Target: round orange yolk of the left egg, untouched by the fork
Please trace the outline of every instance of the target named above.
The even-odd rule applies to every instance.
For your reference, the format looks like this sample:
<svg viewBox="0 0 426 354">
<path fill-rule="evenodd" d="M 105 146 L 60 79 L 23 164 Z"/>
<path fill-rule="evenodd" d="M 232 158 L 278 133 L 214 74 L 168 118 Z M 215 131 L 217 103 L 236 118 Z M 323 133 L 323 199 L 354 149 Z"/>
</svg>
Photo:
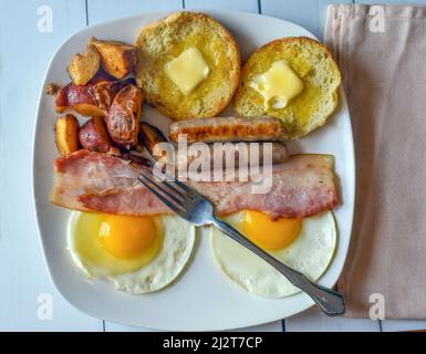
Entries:
<svg viewBox="0 0 426 354">
<path fill-rule="evenodd" d="M 101 244 L 111 254 L 132 259 L 143 253 L 155 238 L 155 225 L 149 217 L 112 216 L 101 223 Z"/>
</svg>

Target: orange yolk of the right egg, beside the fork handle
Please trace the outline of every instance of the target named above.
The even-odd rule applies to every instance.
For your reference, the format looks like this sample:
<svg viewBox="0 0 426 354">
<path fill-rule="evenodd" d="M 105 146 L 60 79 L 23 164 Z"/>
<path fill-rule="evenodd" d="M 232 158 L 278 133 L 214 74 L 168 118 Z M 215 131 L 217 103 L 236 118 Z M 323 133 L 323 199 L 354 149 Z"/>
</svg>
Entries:
<svg viewBox="0 0 426 354">
<path fill-rule="evenodd" d="M 302 219 L 271 220 L 260 211 L 248 210 L 239 220 L 240 231 L 267 251 L 288 247 L 299 236 L 301 228 Z"/>
</svg>

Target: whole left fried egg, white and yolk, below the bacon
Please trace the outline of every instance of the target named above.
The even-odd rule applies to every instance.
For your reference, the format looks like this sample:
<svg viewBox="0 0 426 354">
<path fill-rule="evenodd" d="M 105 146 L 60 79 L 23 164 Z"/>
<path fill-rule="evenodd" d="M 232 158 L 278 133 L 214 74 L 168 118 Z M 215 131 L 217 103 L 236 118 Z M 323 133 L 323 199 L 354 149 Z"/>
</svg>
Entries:
<svg viewBox="0 0 426 354">
<path fill-rule="evenodd" d="M 129 217 L 74 211 L 67 249 L 87 279 L 139 294 L 169 284 L 188 262 L 195 227 L 177 216 Z"/>
</svg>

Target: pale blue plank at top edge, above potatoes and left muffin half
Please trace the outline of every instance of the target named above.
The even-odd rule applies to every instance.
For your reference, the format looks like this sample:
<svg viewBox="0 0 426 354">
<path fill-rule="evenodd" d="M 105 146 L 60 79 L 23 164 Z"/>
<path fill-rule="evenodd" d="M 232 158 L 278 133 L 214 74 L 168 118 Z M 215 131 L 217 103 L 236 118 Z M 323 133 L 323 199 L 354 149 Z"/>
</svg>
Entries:
<svg viewBox="0 0 426 354">
<path fill-rule="evenodd" d="M 136 15 L 142 12 L 183 9 L 181 0 L 87 0 L 89 24 Z"/>
</svg>

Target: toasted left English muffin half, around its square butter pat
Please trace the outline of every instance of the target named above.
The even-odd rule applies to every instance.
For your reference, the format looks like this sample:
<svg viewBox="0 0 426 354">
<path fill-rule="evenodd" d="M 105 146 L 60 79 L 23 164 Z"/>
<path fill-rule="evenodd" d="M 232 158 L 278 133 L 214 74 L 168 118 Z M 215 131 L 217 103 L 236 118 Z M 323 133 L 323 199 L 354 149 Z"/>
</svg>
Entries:
<svg viewBox="0 0 426 354">
<path fill-rule="evenodd" d="M 143 28 L 135 45 L 137 85 L 146 101 L 173 119 L 209 117 L 231 101 L 240 77 L 240 54 L 231 34 L 214 18 L 180 11 Z M 209 73 L 189 94 L 165 72 L 165 64 L 188 49 L 197 49 Z"/>
</svg>

